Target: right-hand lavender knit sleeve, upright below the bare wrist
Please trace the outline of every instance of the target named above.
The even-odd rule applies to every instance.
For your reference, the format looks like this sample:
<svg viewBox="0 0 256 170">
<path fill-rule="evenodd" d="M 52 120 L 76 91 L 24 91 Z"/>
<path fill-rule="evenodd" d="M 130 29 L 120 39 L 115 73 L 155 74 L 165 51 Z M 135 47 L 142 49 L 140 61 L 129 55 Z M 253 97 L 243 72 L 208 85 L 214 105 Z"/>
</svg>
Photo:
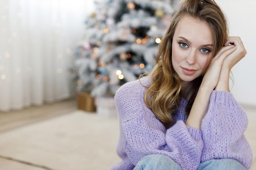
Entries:
<svg viewBox="0 0 256 170">
<path fill-rule="evenodd" d="M 214 90 L 201 124 L 204 142 L 201 162 L 232 158 L 249 170 L 252 151 L 243 135 L 247 124 L 246 113 L 232 93 Z"/>
</svg>

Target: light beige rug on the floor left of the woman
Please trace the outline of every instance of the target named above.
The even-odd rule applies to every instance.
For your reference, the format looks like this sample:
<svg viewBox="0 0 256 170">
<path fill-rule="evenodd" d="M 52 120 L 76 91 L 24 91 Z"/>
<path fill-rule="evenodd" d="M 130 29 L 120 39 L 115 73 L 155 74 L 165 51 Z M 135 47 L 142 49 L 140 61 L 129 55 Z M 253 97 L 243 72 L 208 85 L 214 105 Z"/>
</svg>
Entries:
<svg viewBox="0 0 256 170">
<path fill-rule="evenodd" d="M 0 134 L 0 155 L 53 170 L 108 170 L 120 161 L 118 134 L 117 118 L 76 111 Z"/>
</svg>

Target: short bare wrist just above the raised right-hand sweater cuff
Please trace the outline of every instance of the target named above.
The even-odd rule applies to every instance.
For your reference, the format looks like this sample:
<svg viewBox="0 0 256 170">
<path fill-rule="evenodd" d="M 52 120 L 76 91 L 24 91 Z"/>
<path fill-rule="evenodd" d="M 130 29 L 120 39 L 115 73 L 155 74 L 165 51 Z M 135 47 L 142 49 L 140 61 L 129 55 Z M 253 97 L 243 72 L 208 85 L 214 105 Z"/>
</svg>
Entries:
<svg viewBox="0 0 256 170">
<path fill-rule="evenodd" d="M 227 67 L 222 67 L 219 75 L 218 83 L 215 87 L 217 91 L 230 91 L 229 90 L 229 73 L 230 69 Z"/>
</svg>

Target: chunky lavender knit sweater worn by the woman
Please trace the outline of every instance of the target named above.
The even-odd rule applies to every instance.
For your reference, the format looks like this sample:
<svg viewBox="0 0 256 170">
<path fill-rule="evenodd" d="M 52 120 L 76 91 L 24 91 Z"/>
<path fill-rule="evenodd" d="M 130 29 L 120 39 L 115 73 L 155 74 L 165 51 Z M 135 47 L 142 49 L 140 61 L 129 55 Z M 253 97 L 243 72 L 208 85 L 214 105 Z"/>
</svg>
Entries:
<svg viewBox="0 0 256 170">
<path fill-rule="evenodd" d="M 150 85 L 150 78 L 140 82 Z M 247 116 L 232 93 L 214 90 L 201 130 L 186 126 L 182 98 L 176 122 L 166 129 L 143 101 L 146 88 L 139 81 L 122 85 L 115 101 L 119 114 L 120 136 L 117 153 L 121 162 L 111 170 L 133 170 L 138 161 L 148 154 L 162 154 L 172 158 L 182 170 L 197 170 L 200 162 L 232 158 L 247 170 L 252 164 L 252 151 L 243 133 Z"/>
</svg>

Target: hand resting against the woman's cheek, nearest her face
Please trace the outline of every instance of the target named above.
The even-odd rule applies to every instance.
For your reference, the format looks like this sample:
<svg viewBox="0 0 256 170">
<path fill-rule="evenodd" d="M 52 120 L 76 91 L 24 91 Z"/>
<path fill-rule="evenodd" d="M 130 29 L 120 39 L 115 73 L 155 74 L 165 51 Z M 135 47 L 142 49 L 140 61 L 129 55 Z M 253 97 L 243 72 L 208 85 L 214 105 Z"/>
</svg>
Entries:
<svg viewBox="0 0 256 170">
<path fill-rule="evenodd" d="M 228 42 L 227 42 L 228 43 Z M 221 72 L 222 65 L 225 61 L 225 59 L 236 51 L 235 45 L 225 46 L 222 47 L 222 49 L 216 54 L 216 56 L 211 60 L 208 69 L 203 77 L 202 83 L 200 85 L 200 88 L 206 88 L 212 92 L 214 88 L 216 87 L 219 76 Z M 230 60 L 234 58 L 234 55 L 232 55 L 228 62 L 226 62 L 226 65 L 231 65 Z"/>
</svg>

